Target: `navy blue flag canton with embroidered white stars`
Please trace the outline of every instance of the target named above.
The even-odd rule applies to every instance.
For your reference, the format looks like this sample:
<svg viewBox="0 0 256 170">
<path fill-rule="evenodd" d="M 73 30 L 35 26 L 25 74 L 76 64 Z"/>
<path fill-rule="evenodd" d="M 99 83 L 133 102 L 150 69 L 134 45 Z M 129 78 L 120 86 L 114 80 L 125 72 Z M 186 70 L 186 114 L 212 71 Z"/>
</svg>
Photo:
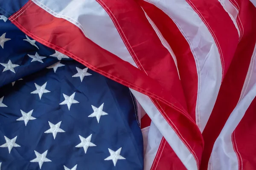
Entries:
<svg viewBox="0 0 256 170">
<path fill-rule="evenodd" d="M 0 20 L 1 170 L 143 169 L 129 89 Z"/>
</svg>

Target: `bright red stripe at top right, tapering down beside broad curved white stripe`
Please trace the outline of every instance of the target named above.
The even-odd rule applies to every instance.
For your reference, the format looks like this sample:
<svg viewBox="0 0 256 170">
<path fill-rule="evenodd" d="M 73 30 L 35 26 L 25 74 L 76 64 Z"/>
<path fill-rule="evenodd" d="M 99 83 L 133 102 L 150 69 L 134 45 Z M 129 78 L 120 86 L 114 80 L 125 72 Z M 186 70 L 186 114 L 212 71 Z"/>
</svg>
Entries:
<svg viewBox="0 0 256 170">
<path fill-rule="evenodd" d="M 221 56 L 223 77 L 227 74 L 239 41 L 237 29 L 217 0 L 186 0 L 212 34 Z"/>
</svg>

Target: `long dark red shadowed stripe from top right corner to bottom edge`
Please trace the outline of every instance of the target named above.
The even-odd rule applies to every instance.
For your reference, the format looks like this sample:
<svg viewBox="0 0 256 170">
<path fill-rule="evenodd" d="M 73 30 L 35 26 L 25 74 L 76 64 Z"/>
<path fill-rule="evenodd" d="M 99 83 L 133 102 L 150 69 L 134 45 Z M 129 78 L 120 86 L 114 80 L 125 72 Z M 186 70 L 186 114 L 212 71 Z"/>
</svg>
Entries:
<svg viewBox="0 0 256 170">
<path fill-rule="evenodd" d="M 218 98 L 204 129 L 204 152 L 201 169 L 206 170 L 212 147 L 225 125 L 230 113 L 239 100 L 244 79 L 256 41 L 256 8 L 249 1 L 241 0 L 239 15 L 244 28 L 244 35 L 239 42 L 233 61 L 222 82 Z"/>
</svg>

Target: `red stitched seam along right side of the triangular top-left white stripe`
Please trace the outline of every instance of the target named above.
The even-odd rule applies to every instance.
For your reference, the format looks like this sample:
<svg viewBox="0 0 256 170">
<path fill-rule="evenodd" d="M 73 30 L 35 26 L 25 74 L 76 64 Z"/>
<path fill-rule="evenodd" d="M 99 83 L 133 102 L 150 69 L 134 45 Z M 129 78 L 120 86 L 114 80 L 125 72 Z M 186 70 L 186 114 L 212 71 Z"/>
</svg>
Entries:
<svg viewBox="0 0 256 170">
<path fill-rule="evenodd" d="M 118 21 L 117 21 L 117 19 L 116 19 L 116 17 L 114 16 L 114 14 L 112 13 L 112 11 L 108 8 L 108 6 L 104 3 L 104 2 L 102 2 L 102 0 L 96 0 L 104 9 L 105 9 L 105 11 L 109 14 L 109 16 L 111 17 L 111 19 L 112 19 L 112 21 L 113 21 L 113 23 L 115 24 L 115 22 L 114 22 L 114 20 L 113 20 L 113 18 L 116 20 L 116 23 L 118 24 L 118 26 L 115 24 L 115 26 L 116 26 L 116 28 L 117 28 L 117 30 L 118 30 L 118 32 L 119 32 L 119 34 L 120 34 L 120 36 L 122 37 L 122 35 L 125 37 L 125 39 L 126 39 L 126 42 L 128 43 L 128 45 L 130 46 L 130 48 L 131 48 L 131 50 L 132 50 L 132 52 L 133 52 L 133 54 L 134 54 L 134 56 L 137 58 L 137 61 L 140 63 L 140 60 L 138 59 L 138 57 L 137 57 L 137 55 L 135 54 L 135 52 L 134 52 L 134 50 L 133 50 L 133 48 L 131 47 L 131 45 L 130 45 L 130 43 L 129 43 L 129 41 L 128 41 L 128 39 L 126 38 L 126 36 L 125 36 L 125 34 L 124 34 L 124 32 L 122 31 L 122 28 L 121 28 L 121 26 L 119 25 L 119 23 L 118 23 Z M 101 3 L 99 2 L 99 1 L 101 1 Z M 102 3 L 108 8 L 108 10 L 102 5 Z M 112 16 L 111 16 L 111 14 L 112 14 Z M 122 31 L 122 34 L 121 34 L 121 32 L 119 31 L 119 29 Z M 122 39 L 123 39 L 123 37 L 122 37 Z M 125 40 L 123 39 L 123 41 L 125 42 Z M 127 43 L 125 43 L 125 45 L 126 45 L 126 47 L 127 47 Z M 128 47 L 127 47 L 128 48 Z M 129 48 L 128 48 L 129 49 Z M 131 56 L 133 57 L 133 55 L 132 55 L 132 53 L 131 53 L 131 51 L 129 50 L 129 52 L 130 52 L 130 54 L 131 54 Z M 133 57 L 134 58 L 134 57 Z M 135 60 L 134 60 L 135 61 Z M 135 61 L 136 62 L 136 61 Z M 137 64 L 137 62 L 136 62 L 136 64 Z M 138 64 L 137 64 L 138 65 Z M 141 67 L 143 68 L 143 66 L 142 66 L 142 64 L 140 63 L 140 65 L 141 65 Z M 145 69 L 143 68 L 143 70 L 145 71 Z M 147 74 L 147 72 L 145 71 L 145 74 Z M 147 74 L 148 75 L 148 74 Z"/>
</svg>

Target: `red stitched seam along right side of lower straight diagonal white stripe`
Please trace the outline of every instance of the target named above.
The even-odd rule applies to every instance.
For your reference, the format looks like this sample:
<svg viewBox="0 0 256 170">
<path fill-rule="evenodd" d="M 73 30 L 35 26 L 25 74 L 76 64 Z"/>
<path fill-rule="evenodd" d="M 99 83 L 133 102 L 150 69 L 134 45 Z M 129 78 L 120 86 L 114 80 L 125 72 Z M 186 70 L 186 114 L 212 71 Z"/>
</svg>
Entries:
<svg viewBox="0 0 256 170">
<path fill-rule="evenodd" d="M 156 105 L 156 103 L 154 102 L 154 100 L 150 97 L 151 101 L 154 103 L 154 105 L 157 107 L 158 111 L 159 108 L 158 106 L 160 106 L 160 104 L 157 102 L 158 106 Z M 163 108 L 160 106 L 161 110 L 163 111 Z M 160 111 L 161 113 L 161 111 Z M 188 144 L 188 142 L 186 141 L 186 139 L 183 138 L 183 136 L 181 135 L 180 131 L 177 129 L 177 127 L 175 126 L 175 124 L 172 122 L 172 120 L 167 116 L 167 114 L 165 113 L 165 111 L 163 111 L 163 113 L 166 115 L 166 117 L 169 119 L 169 121 L 172 123 L 172 125 L 170 124 L 170 122 L 166 119 L 165 116 L 163 116 L 163 118 L 166 120 L 166 122 L 168 122 L 168 124 L 172 127 L 172 129 L 175 131 L 175 133 L 179 136 L 179 138 L 181 139 L 181 141 L 183 142 L 183 144 L 185 144 L 185 146 L 189 149 L 189 151 L 192 153 L 192 155 L 194 156 L 195 158 L 195 161 L 197 162 L 197 167 L 198 167 L 198 170 L 199 170 L 199 160 L 198 160 L 198 157 L 196 156 L 195 154 L 195 151 L 192 150 L 192 148 L 190 147 L 190 145 Z M 162 114 L 163 115 L 163 114 Z M 174 127 L 175 128 L 174 128 Z"/>
</svg>

